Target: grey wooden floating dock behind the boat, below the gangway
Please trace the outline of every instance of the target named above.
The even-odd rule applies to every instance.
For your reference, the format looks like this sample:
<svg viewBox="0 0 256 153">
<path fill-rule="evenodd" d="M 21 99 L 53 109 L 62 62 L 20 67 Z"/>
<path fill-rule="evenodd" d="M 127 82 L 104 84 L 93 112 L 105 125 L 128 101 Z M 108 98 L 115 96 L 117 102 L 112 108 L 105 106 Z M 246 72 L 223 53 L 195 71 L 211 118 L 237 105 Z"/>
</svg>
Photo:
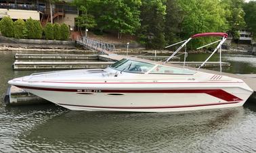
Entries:
<svg viewBox="0 0 256 153">
<path fill-rule="evenodd" d="M 140 59 L 154 61 L 165 61 L 167 56 L 135 56 Z M 103 69 L 114 63 L 111 55 L 51 55 L 51 54 L 16 54 L 16 61 L 13 64 L 14 70 L 37 70 L 37 69 Z M 126 56 L 123 56 L 126 58 Z M 175 57 L 177 59 L 177 57 Z M 23 60 L 31 61 L 23 61 Z M 56 60 L 56 61 L 35 61 L 35 60 Z M 83 59 L 97 59 L 100 61 L 72 61 Z M 22 61 L 20 61 L 22 60 Z M 66 61 L 59 61 L 66 60 Z M 171 64 L 184 65 L 182 61 L 171 61 Z M 202 62 L 188 61 L 186 66 L 198 67 Z M 219 62 L 207 62 L 205 67 L 218 67 Z M 223 67 L 229 67 L 230 63 L 223 62 Z"/>
</svg>

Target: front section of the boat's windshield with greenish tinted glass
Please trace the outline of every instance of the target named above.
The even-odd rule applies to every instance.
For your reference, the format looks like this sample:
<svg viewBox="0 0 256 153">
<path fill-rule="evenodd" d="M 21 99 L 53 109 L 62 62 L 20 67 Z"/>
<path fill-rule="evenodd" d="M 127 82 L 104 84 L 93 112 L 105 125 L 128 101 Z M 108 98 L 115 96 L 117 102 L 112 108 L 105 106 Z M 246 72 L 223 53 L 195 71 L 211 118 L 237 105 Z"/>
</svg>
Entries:
<svg viewBox="0 0 256 153">
<path fill-rule="evenodd" d="M 154 67 L 154 64 L 142 62 L 142 61 L 133 61 L 130 59 L 122 59 L 121 61 L 118 61 L 114 63 L 113 65 L 110 65 L 113 69 L 117 69 L 119 71 L 125 71 L 125 72 L 132 72 L 132 73 L 146 73 L 152 67 Z"/>
</svg>

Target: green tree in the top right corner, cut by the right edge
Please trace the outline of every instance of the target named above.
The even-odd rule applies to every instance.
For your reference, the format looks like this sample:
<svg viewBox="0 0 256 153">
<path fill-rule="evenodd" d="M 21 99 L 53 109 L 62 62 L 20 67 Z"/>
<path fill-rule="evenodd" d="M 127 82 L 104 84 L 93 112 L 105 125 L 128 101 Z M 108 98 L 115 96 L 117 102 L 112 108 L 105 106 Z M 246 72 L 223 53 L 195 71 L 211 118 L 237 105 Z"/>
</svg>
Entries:
<svg viewBox="0 0 256 153">
<path fill-rule="evenodd" d="M 244 3 L 244 20 L 247 23 L 247 27 L 253 32 L 253 38 L 256 38 L 256 1 L 250 1 Z"/>
</svg>

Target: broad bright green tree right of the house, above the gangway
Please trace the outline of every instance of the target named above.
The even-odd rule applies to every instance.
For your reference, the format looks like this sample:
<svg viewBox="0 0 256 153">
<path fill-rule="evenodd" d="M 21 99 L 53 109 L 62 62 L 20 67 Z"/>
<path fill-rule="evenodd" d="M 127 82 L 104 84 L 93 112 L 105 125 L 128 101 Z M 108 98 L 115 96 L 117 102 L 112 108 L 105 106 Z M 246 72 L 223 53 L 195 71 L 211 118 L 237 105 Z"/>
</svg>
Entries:
<svg viewBox="0 0 256 153">
<path fill-rule="evenodd" d="M 135 34 L 140 27 L 140 0 L 76 0 L 81 15 L 77 24 L 82 28 L 97 28 L 101 31 Z"/>
</svg>

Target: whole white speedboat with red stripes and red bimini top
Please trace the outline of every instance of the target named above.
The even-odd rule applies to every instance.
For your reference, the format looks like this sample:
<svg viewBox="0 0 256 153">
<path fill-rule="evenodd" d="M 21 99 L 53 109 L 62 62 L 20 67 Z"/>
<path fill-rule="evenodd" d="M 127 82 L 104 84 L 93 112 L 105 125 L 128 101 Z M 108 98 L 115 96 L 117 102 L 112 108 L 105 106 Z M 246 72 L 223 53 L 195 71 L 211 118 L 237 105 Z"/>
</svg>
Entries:
<svg viewBox="0 0 256 153">
<path fill-rule="evenodd" d="M 228 35 L 196 34 L 184 40 L 182 47 L 198 36 L 221 36 L 214 54 L 218 50 L 221 53 L 221 44 Z M 122 59 L 106 69 L 35 73 L 8 83 L 67 109 L 79 111 L 166 112 L 221 109 L 242 106 L 253 93 L 242 80 L 226 75 L 135 58 Z"/>
</svg>

